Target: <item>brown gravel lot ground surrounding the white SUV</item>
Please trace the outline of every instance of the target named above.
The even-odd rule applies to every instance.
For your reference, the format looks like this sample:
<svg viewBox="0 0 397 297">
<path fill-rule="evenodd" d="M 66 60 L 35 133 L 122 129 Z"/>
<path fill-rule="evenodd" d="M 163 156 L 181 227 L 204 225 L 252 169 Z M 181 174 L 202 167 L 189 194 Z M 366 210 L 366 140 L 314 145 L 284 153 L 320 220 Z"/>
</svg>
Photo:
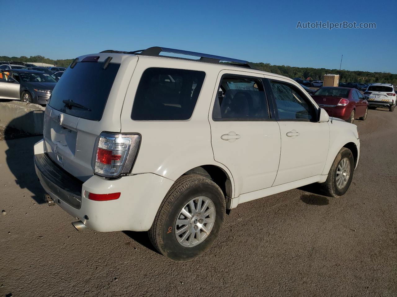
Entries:
<svg viewBox="0 0 397 297">
<path fill-rule="evenodd" d="M 397 112 L 356 120 L 342 198 L 290 190 L 241 204 L 201 257 L 172 262 L 145 232 L 77 232 L 44 204 L 40 137 L 0 141 L 0 296 L 397 296 Z"/>
</svg>

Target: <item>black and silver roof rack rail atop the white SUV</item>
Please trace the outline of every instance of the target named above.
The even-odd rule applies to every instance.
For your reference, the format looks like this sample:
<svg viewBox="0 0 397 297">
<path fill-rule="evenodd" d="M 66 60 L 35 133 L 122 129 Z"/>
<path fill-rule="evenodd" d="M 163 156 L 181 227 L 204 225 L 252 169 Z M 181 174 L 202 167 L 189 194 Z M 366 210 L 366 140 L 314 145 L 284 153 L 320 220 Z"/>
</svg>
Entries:
<svg viewBox="0 0 397 297">
<path fill-rule="evenodd" d="M 140 49 L 137 51 L 115 51 L 115 50 L 111 50 L 111 49 L 106 50 L 106 51 L 101 51 L 101 53 L 130 53 L 130 54 L 136 54 L 136 55 L 155 56 L 155 57 L 160 56 L 161 52 L 176 53 L 179 55 L 189 55 L 189 56 L 200 57 L 199 61 L 202 61 L 202 62 L 220 63 L 220 61 L 226 61 L 226 62 L 230 62 L 230 64 L 234 65 L 234 66 L 252 68 L 250 63 L 248 61 L 244 61 L 244 60 L 227 58 L 227 57 L 216 56 L 216 55 L 209 55 L 206 53 L 197 53 L 195 51 L 185 51 L 182 49 L 162 48 L 160 46 L 153 46 L 151 48 Z M 162 57 L 164 57 L 164 56 L 162 56 Z M 177 57 L 171 57 L 171 58 L 177 58 Z M 232 63 L 237 63 L 237 64 L 232 64 Z"/>
</svg>

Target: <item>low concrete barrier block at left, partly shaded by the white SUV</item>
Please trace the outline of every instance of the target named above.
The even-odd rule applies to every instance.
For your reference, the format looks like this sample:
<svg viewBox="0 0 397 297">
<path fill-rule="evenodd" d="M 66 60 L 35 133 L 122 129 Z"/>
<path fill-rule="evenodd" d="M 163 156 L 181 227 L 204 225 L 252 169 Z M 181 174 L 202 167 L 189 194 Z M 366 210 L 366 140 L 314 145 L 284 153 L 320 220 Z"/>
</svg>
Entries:
<svg viewBox="0 0 397 297">
<path fill-rule="evenodd" d="M 20 101 L 0 103 L 0 122 L 32 135 L 43 133 L 45 107 Z"/>
</svg>

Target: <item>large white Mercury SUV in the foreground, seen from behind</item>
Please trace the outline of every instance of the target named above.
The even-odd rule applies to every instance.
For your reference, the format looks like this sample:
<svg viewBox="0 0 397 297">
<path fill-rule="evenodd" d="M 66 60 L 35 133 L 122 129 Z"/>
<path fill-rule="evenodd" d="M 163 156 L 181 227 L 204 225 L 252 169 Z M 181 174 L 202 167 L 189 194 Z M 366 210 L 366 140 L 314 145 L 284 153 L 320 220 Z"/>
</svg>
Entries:
<svg viewBox="0 0 397 297">
<path fill-rule="evenodd" d="M 34 151 L 47 198 L 78 230 L 148 231 L 158 251 L 185 261 L 240 203 L 309 184 L 345 194 L 360 141 L 290 78 L 154 47 L 75 59 Z"/>
</svg>

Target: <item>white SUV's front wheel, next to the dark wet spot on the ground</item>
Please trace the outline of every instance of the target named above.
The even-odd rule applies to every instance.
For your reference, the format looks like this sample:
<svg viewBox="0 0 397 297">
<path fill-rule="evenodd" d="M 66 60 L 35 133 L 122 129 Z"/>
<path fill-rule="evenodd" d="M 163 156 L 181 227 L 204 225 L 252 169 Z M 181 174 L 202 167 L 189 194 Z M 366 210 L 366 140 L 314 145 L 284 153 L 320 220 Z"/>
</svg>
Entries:
<svg viewBox="0 0 397 297">
<path fill-rule="evenodd" d="M 344 164 L 346 166 L 343 166 Z M 327 180 L 319 184 L 321 193 L 330 197 L 340 197 L 345 194 L 353 179 L 354 168 L 353 153 L 349 148 L 341 148 L 328 172 Z M 342 182 L 341 179 L 343 179 Z"/>
</svg>

